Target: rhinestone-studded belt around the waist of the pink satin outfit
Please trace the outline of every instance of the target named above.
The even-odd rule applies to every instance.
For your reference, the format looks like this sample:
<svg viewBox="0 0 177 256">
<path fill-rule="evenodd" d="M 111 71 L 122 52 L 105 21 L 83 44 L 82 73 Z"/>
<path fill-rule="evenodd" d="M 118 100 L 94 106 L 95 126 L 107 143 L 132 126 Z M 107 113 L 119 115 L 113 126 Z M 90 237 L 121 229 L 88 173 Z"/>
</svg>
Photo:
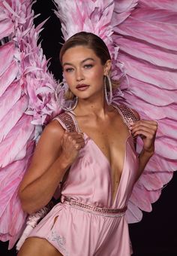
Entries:
<svg viewBox="0 0 177 256">
<path fill-rule="evenodd" d="M 98 206 L 86 205 L 85 203 L 80 203 L 77 200 L 74 200 L 71 197 L 63 197 L 63 202 L 68 202 L 70 206 L 77 206 L 83 209 L 87 209 L 93 212 L 101 213 L 101 214 L 124 214 L 127 210 L 127 206 L 121 209 L 107 209 Z"/>
</svg>

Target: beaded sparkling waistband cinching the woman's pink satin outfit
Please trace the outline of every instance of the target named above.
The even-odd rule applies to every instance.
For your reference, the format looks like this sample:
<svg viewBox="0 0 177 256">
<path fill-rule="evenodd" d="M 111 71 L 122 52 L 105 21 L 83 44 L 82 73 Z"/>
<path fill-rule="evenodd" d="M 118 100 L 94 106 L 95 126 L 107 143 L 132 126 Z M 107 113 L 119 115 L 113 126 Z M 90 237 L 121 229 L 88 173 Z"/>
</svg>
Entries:
<svg viewBox="0 0 177 256">
<path fill-rule="evenodd" d="M 127 210 L 127 206 L 124 206 L 124 208 L 121 208 L 121 209 L 107 209 L 107 208 L 98 207 L 98 206 L 86 205 L 85 203 L 80 203 L 71 197 L 62 197 L 62 199 L 63 199 L 62 200 L 63 203 L 68 203 L 70 206 L 73 206 L 74 208 L 78 208 L 86 212 L 93 212 L 98 215 L 108 215 L 109 217 L 122 216 Z M 111 215 L 114 215 L 114 216 L 111 216 Z"/>
</svg>

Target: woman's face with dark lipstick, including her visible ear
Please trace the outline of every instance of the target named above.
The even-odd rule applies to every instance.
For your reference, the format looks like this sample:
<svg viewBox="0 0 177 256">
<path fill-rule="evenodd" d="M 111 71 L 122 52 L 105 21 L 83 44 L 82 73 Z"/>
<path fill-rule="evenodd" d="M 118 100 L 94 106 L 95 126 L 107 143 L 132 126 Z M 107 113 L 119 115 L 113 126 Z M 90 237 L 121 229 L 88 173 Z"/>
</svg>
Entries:
<svg viewBox="0 0 177 256">
<path fill-rule="evenodd" d="M 104 75 L 110 72 L 110 60 L 103 66 L 92 49 L 77 46 L 66 50 L 62 66 L 65 80 L 75 96 L 88 99 L 104 92 Z"/>
</svg>

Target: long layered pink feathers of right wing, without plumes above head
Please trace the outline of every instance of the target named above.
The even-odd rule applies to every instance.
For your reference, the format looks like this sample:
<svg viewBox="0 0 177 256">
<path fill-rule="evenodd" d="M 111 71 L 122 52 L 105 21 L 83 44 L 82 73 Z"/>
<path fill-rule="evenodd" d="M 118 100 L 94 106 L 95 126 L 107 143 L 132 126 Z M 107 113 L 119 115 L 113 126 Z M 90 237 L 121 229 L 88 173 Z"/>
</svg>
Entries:
<svg viewBox="0 0 177 256">
<path fill-rule="evenodd" d="M 123 88 L 127 88 L 124 98 L 142 118 L 157 120 L 159 124 L 155 154 L 130 197 L 130 222 L 142 218 L 136 207 L 151 210 L 149 203 L 158 199 L 163 185 L 177 169 L 176 4 L 139 1 L 130 17 L 114 27 L 114 41 L 120 47 L 118 60 L 124 62 L 129 81 L 127 87 L 126 81 L 123 83 Z M 142 145 L 138 143 L 140 151 Z"/>
</svg>

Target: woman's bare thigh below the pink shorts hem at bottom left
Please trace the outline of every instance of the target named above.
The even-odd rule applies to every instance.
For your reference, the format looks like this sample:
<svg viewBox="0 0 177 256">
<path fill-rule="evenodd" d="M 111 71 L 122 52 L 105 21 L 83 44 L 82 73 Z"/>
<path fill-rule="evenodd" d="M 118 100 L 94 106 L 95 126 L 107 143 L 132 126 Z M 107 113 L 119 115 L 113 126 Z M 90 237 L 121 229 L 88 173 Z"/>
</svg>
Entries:
<svg viewBox="0 0 177 256">
<path fill-rule="evenodd" d="M 29 237 L 20 248 L 17 256 L 62 256 L 62 254 L 46 239 Z"/>
</svg>

